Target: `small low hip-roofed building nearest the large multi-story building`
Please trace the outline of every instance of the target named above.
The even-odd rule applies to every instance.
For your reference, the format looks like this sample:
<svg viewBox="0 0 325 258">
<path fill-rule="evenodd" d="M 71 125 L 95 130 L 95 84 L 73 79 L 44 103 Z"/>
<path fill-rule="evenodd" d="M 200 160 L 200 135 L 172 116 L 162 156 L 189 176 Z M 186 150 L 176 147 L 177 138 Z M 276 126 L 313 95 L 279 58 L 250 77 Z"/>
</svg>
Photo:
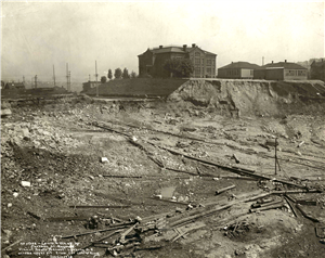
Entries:
<svg viewBox="0 0 325 258">
<path fill-rule="evenodd" d="M 252 79 L 253 70 L 260 68 L 257 64 L 248 62 L 232 62 L 218 69 L 218 78 L 229 79 Z"/>
</svg>

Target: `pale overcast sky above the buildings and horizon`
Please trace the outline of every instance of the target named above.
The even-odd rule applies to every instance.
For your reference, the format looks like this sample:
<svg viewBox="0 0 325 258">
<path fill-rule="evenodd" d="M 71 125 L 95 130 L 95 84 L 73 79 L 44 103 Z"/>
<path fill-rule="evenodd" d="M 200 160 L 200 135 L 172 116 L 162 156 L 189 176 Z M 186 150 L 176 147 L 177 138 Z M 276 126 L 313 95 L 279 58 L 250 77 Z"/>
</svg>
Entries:
<svg viewBox="0 0 325 258">
<path fill-rule="evenodd" d="M 108 68 L 138 70 L 159 44 L 196 43 L 218 67 L 247 61 L 324 56 L 323 1 L 6 1 L 1 2 L 1 79 L 94 79 Z"/>
</svg>

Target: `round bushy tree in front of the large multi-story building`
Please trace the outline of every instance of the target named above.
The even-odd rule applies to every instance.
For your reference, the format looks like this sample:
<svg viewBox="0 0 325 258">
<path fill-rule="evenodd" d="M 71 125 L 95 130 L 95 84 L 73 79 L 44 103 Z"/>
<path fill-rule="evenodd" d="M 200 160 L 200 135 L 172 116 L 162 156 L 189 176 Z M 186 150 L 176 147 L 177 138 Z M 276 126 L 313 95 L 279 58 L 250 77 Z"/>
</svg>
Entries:
<svg viewBox="0 0 325 258">
<path fill-rule="evenodd" d="M 165 62 L 164 68 L 173 77 L 190 77 L 194 72 L 194 66 L 188 59 L 169 59 Z"/>
</svg>

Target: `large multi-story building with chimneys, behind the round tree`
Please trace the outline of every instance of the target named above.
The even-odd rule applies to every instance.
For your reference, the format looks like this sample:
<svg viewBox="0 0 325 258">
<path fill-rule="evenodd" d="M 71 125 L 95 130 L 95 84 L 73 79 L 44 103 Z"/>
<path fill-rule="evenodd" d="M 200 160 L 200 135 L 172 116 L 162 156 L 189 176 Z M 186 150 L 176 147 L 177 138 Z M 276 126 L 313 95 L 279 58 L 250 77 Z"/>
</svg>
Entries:
<svg viewBox="0 0 325 258">
<path fill-rule="evenodd" d="M 139 57 L 139 76 L 170 77 L 164 68 L 169 59 L 190 59 L 194 65 L 194 73 L 191 77 L 204 78 L 216 77 L 217 54 L 198 48 L 195 43 L 192 47 L 164 47 L 147 49 Z"/>
</svg>

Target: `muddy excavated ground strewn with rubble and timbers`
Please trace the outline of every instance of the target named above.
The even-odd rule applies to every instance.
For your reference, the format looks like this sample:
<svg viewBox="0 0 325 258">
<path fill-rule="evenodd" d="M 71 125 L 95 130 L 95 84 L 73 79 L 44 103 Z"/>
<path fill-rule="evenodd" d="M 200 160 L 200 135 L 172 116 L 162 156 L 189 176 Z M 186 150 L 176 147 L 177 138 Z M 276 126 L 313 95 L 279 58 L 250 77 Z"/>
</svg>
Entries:
<svg viewBox="0 0 325 258">
<path fill-rule="evenodd" d="M 89 98 L 10 108 L 1 118 L 3 257 L 324 257 L 315 232 L 325 227 L 324 115 L 231 117 Z M 318 192 L 273 194 L 265 198 L 281 206 L 249 211 L 249 198 L 289 190 Z"/>
</svg>

